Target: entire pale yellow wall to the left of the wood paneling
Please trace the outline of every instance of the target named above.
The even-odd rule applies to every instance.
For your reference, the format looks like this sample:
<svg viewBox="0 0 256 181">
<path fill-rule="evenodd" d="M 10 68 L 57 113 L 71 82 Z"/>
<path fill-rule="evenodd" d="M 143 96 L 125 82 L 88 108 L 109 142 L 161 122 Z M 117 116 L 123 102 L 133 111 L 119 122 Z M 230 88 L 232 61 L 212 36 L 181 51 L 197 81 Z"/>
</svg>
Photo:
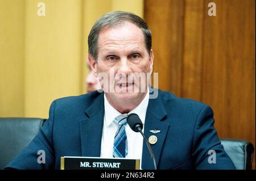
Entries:
<svg viewBox="0 0 256 181">
<path fill-rule="evenodd" d="M 0 116 L 47 118 L 54 99 L 84 94 L 90 28 L 113 10 L 143 16 L 143 1 L 0 0 Z"/>
</svg>

